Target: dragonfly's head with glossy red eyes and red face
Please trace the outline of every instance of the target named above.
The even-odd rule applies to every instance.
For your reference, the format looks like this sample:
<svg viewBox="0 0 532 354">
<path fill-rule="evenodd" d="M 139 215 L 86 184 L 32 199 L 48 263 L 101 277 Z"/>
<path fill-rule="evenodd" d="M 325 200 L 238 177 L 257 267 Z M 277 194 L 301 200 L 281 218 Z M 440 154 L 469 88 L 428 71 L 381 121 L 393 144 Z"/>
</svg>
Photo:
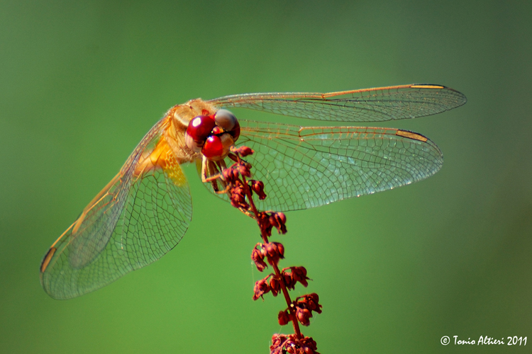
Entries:
<svg viewBox="0 0 532 354">
<path fill-rule="evenodd" d="M 218 110 L 214 115 L 197 115 L 184 135 L 187 146 L 206 158 L 219 161 L 227 156 L 240 136 L 240 124 L 233 113 Z"/>
</svg>

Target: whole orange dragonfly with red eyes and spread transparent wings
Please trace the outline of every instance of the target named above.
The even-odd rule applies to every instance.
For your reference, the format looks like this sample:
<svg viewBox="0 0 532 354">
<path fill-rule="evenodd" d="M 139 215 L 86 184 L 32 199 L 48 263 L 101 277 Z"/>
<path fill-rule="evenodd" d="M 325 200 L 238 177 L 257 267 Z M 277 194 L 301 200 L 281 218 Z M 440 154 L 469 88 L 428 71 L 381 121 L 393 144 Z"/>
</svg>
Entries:
<svg viewBox="0 0 532 354">
<path fill-rule="evenodd" d="M 50 246 L 40 282 L 55 299 L 97 290 L 174 248 L 192 220 L 182 164 L 195 163 L 209 190 L 228 200 L 215 162 L 231 147 L 247 156 L 266 185 L 260 210 L 287 212 L 408 185 L 436 173 L 443 154 L 416 132 L 350 123 L 434 115 L 466 102 L 453 89 L 410 84 L 332 93 L 245 93 L 175 105 L 143 137 L 126 163 Z M 248 108 L 339 126 L 307 127 L 236 120 Z M 214 122 L 214 123 L 213 123 Z M 228 161 L 231 162 L 231 161 Z"/>
</svg>

